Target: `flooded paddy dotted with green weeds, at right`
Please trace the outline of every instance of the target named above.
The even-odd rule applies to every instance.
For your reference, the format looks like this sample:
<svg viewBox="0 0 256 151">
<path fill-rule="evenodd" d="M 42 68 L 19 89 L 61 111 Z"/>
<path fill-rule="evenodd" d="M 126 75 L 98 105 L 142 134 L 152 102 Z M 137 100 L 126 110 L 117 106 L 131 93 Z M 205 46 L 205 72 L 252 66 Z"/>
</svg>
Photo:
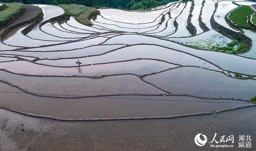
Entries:
<svg viewBox="0 0 256 151">
<path fill-rule="evenodd" d="M 195 37 L 169 38 L 169 40 L 199 49 L 225 52 L 232 52 L 231 50 L 237 50 L 240 46 L 238 42 L 219 34 L 215 30 L 210 30 Z"/>
</svg>

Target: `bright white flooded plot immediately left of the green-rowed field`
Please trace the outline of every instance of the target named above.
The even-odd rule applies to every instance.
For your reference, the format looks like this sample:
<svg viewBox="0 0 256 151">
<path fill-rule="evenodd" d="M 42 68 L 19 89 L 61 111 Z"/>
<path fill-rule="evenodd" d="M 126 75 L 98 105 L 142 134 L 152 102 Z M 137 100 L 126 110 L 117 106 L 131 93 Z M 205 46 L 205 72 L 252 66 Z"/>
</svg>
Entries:
<svg viewBox="0 0 256 151">
<path fill-rule="evenodd" d="M 238 6 L 233 4 L 232 1 L 220 1 L 217 4 L 218 4 L 218 8 L 214 14 L 214 20 L 221 26 L 224 26 L 230 30 L 236 31 L 235 29 L 231 28 L 228 25 L 228 23 L 225 21 L 225 16 L 228 14 L 229 11 L 232 11 Z"/>
</svg>

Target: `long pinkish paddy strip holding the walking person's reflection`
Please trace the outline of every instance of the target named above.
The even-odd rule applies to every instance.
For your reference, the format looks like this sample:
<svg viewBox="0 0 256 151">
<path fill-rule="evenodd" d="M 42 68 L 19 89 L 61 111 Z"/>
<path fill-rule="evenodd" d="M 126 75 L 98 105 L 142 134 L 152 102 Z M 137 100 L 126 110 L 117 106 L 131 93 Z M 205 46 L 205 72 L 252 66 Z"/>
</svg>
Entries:
<svg viewBox="0 0 256 151">
<path fill-rule="evenodd" d="M 75 63 L 76 59 L 74 59 L 74 65 L 77 65 Z M 160 72 L 174 67 L 178 67 L 178 65 L 168 64 L 166 62 L 156 60 L 134 60 L 111 64 L 98 64 L 81 67 L 77 66 L 72 68 L 50 67 L 34 64 L 28 61 L 0 63 L 0 69 L 6 69 L 14 73 L 53 76 L 100 76 L 125 73 L 144 75 L 154 72 Z"/>
</svg>

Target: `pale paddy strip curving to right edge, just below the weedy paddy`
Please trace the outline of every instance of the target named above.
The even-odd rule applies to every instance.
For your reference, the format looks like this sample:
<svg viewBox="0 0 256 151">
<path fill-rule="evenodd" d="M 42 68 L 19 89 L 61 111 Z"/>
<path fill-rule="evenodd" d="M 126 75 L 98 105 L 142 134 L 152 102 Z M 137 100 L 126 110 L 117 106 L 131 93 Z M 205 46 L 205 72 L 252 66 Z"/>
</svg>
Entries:
<svg viewBox="0 0 256 151">
<path fill-rule="evenodd" d="M 136 44 L 136 43 L 148 43 L 162 45 L 171 49 L 180 50 L 189 54 L 204 58 L 220 66 L 224 70 L 232 72 L 244 73 L 249 75 L 256 75 L 256 60 L 248 59 L 232 54 L 217 52 L 217 51 L 205 51 L 195 48 L 186 47 L 175 42 L 167 40 L 156 39 L 154 37 L 147 37 L 142 35 L 127 34 L 120 35 L 109 39 L 105 44 L 114 43 L 116 41 L 124 44 Z M 234 45 L 235 46 L 235 45 Z"/>
</svg>

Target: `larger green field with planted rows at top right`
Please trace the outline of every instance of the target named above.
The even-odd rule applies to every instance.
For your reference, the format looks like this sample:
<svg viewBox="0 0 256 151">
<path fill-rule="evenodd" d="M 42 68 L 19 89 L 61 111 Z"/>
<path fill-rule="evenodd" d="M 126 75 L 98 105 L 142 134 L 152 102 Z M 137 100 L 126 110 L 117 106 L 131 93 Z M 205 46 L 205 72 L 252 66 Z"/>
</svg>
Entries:
<svg viewBox="0 0 256 151">
<path fill-rule="evenodd" d="M 230 19 L 237 26 L 250 27 L 247 23 L 248 16 L 254 13 L 255 12 L 252 10 L 250 6 L 242 5 L 236 8 L 235 10 L 231 11 L 230 14 L 228 15 L 228 19 Z M 256 16 L 253 20 L 255 20 L 254 22 L 256 23 Z"/>
</svg>

